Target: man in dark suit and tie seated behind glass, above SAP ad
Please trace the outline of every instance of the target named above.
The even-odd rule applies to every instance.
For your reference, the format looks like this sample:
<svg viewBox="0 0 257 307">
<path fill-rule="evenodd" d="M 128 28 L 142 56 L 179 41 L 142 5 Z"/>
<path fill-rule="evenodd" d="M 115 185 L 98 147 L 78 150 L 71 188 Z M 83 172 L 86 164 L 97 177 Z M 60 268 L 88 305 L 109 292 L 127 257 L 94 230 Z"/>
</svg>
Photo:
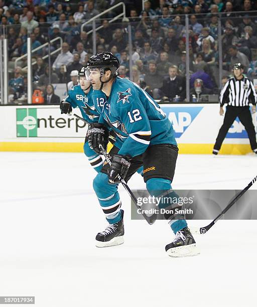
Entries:
<svg viewBox="0 0 257 307">
<path fill-rule="evenodd" d="M 176 65 L 169 67 L 169 76 L 163 80 L 160 95 L 164 96 L 164 100 L 173 100 L 176 95 L 179 96 L 179 101 L 183 101 L 186 98 L 186 79 L 178 75 Z"/>
</svg>

